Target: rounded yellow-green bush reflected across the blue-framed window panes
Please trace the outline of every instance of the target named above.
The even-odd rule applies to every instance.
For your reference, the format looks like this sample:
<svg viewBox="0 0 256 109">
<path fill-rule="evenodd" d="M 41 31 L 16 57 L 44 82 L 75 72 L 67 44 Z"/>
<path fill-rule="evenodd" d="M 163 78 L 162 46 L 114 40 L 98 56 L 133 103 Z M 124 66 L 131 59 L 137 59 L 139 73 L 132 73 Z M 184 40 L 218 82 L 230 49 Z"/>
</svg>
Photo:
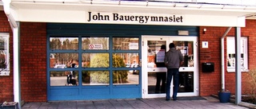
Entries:
<svg viewBox="0 0 256 109">
<path fill-rule="evenodd" d="M 108 68 L 109 65 L 109 55 L 107 53 L 97 53 L 90 60 L 90 68 Z M 125 67 L 121 56 L 113 55 L 113 67 Z M 110 82 L 110 72 L 109 71 L 86 71 L 82 72 L 82 82 L 90 84 L 109 84 Z M 128 72 L 127 71 L 114 71 L 113 72 L 113 82 L 114 84 L 121 84 L 127 82 Z"/>
</svg>

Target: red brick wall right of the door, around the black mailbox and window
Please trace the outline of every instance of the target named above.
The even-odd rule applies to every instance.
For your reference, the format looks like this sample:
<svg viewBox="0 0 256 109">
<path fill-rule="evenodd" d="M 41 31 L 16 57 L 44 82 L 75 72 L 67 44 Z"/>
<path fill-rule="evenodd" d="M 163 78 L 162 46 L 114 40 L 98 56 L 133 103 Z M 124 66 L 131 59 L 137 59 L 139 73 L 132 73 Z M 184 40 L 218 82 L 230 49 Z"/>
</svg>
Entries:
<svg viewBox="0 0 256 109">
<path fill-rule="evenodd" d="M 200 95 L 217 94 L 221 89 L 221 37 L 226 32 L 228 27 L 200 27 L 199 37 L 199 90 Z M 203 29 L 206 29 L 206 33 L 203 33 Z M 241 28 L 241 36 L 248 37 L 248 52 L 249 52 L 249 69 L 255 68 L 256 59 L 256 20 L 246 20 L 246 27 Z M 234 28 L 230 30 L 227 36 L 234 36 Z M 202 41 L 208 41 L 209 48 L 202 48 Z M 226 49 L 226 39 L 225 39 Z M 224 52 L 226 60 L 226 50 Z M 214 72 L 204 73 L 202 72 L 203 62 L 214 62 Z M 226 63 L 224 65 L 226 67 Z M 226 68 L 225 68 L 226 69 Z M 242 94 L 247 92 L 248 73 L 242 72 Z M 226 89 L 235 93 L 235 73 L 225 72 L 225 84 Z"/>
</svg>

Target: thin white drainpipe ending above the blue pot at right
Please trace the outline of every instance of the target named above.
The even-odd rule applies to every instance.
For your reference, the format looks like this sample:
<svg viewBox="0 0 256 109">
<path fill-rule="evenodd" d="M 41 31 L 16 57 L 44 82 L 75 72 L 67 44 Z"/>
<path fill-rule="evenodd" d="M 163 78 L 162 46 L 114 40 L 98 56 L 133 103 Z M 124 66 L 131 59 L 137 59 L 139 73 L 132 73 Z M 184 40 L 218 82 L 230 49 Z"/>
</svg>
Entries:
<svg viewBox="0 0 256 109">
<path fill-rule="evenodd" d="M 223 34 L 221 43 L 222 43 L 222 91 L 225 90 L 225 58 L 224 58 L 224 38 L 226 37 L 226 34 L 230 32 L 230 29 L 232 27 L 229 27 L 226 29 L 226 32 Z"/>
</svg>

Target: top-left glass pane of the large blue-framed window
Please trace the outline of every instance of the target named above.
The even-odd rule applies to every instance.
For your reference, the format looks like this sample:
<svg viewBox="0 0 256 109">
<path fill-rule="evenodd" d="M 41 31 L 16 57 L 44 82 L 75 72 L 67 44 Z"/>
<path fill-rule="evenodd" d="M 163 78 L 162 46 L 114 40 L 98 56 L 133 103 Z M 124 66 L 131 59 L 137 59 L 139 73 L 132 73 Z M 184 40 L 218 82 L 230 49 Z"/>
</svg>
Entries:
<svg viewBox="0 0 256 109">
<path fill-rule="evenodd" d="M 50 37 L 50 49 L 78 49 L 78 37 Z"/>
</svg>

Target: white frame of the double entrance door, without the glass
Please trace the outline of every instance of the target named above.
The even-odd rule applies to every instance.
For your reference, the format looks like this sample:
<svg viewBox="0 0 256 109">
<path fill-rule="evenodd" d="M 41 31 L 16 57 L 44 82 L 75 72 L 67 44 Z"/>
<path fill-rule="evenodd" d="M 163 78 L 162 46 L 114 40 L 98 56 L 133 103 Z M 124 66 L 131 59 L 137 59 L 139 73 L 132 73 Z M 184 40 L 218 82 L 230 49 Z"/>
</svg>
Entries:
<svg viewBox="0 0 256 109">
<path fill-rule="evenodd" d="M 151 36 L 142 35 L 142 98 L 166 97 L 166 93 L 148 94 L 148 76 L 147 76 L 147 41 L 164 41 L 166 40 L 166 51 L 169 50 L 169 44 L 173 41 L 194 41 L 194 67 L 181 67 L 180 72 L 194 72 L 194 91 L 178 92 L 178 96 L 198 96 L 199 95 L 199 64 L 198 64 L 198 37 L 196 36 Z M 167 70 L 166 70 L 167 71 Z M 170 90 L 172 95 L 172 90 Z"/>
</svg>

